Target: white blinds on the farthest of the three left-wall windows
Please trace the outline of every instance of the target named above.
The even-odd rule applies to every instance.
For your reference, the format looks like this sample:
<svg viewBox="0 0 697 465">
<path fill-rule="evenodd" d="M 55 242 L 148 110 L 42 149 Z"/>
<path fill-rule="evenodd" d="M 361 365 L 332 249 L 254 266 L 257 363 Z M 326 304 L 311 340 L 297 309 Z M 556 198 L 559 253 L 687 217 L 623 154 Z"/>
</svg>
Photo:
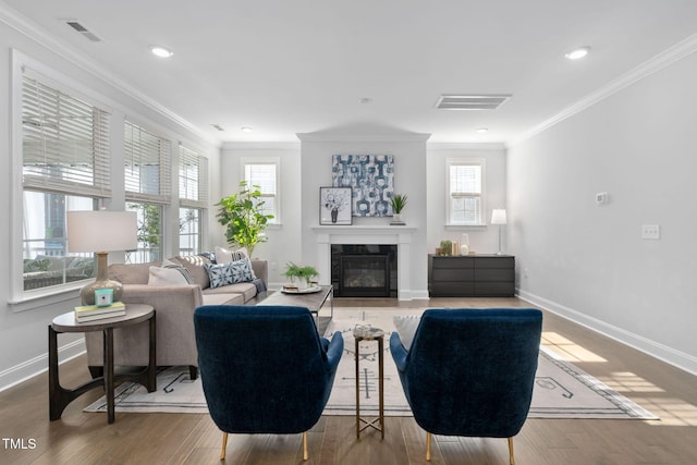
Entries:
<svg viewBox="0 0 697 465">
<path fill-rule="evenodd" d="M 208 206 L 208 159 L 179 146 L 179 198 L 182 207 Z"/>
</svg>

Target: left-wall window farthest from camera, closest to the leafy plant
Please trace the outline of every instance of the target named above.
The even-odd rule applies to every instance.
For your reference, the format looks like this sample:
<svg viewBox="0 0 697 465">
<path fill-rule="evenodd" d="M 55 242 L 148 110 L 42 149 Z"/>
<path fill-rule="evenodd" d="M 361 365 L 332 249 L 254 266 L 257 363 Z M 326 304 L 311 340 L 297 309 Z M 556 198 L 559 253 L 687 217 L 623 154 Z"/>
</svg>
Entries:
<svg viewBox="0 0 697 465">
<path fill-rule="evenodd" d="M 201 252 L 201 224 L 208 205 L 208 159 L 179 146 L 179 253 Z"/>
</svg>

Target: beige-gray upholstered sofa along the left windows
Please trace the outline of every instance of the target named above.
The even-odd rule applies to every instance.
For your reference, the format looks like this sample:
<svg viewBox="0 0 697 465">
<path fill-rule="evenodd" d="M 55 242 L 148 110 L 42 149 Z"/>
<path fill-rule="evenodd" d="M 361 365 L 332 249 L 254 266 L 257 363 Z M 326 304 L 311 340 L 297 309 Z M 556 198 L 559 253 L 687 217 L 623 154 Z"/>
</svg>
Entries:
<svg viewBox="0 0 697 465">
<path fill-rule="evenodd" d="M 149 269 L 161 262 L 137 265 L 110 265 L 109 278 L 123 284 L 122 302 L 148 304 L 157 313 L 157 365 L 189 366 L 192 379 L 198 366 L 194 335 L 194 310 L 200 305 L 254 304 L 268 282 L 266 260 L 250 260 L 255 282 L 244 282 L 211 289 L 205 264 L 211 260 L 204 256 L 173 257 L 168 261 L 180 264 L 188 270 L 194 284 L 149 285 Z M 114 365 L 147 366 L 147 323 L 114 330 Z M 100 332 L 85 334 L 87 360 L 93 375 L 101 372 L 103 364 L 102 335 Z"/>
</svg>

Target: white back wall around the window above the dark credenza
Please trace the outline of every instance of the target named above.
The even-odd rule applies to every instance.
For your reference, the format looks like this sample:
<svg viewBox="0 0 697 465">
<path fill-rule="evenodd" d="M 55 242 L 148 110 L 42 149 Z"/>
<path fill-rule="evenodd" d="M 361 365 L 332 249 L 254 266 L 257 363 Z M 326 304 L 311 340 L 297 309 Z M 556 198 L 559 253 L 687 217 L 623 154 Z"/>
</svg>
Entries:
<svg viewBox="0 0 697 465">
<path fill-rule="evenodd" d="M 429 254 L 436 252 L 442 240 L 461 241 L 466 233 L 469 249 L 477 254 L 499 250 L 499 227 L 447 227 L 448 171 L 447 159 L 479 159 L 485 164 L 484 222 L 491 221 L 491 209 L 506 208 L 505 148 L 500 144 L 429 144 L 428 145 L 428 238 Z M 504 230 L 503 230 L 504 231 Z M 509 253 L 505 243 L 503 252 Z"/>
</svg>

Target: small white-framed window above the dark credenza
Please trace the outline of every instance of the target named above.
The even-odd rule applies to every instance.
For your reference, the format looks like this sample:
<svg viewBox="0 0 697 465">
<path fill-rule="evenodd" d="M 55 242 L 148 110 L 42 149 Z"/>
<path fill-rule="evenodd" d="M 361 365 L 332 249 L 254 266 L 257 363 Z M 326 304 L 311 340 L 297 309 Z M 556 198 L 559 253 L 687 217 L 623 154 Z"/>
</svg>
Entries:
<svg viewBox="0 0 697 465">
<path fill-rule="evenodd" d="M 448 160 L 448 223 L 478 225 L 482 219 L 482 160 Z"/>
</svg>

